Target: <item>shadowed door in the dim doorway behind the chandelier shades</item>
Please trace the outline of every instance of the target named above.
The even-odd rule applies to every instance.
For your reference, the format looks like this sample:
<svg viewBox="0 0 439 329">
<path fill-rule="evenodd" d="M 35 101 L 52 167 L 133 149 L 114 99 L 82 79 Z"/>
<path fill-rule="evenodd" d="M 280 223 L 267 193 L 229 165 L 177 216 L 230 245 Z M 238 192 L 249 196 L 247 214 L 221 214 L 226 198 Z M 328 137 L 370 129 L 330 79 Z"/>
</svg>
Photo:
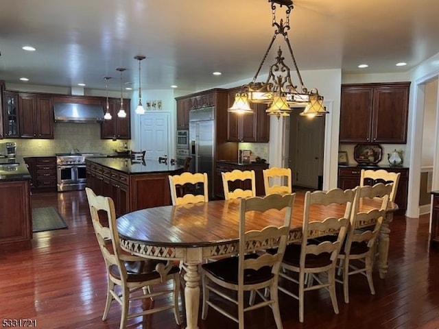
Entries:
<svg viewBox="0 0 439 329">
<path fill-rule="evenodd" d="M 310 119 L 296 112 L 292 116 L 289 167 L 293 185 L 318 188 L 319 176 L 323 175 L 324 117 Z"/>
</svg>

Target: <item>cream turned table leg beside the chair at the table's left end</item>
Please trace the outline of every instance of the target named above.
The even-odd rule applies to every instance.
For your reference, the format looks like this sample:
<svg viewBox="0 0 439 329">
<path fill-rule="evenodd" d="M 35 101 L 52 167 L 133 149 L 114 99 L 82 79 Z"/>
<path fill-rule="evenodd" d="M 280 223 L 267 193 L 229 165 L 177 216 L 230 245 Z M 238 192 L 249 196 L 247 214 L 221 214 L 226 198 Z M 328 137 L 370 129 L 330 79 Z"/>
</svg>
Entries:
<svg viewBox="0 0 439 329">
<path fill-rule="evenodd" d="M 198 273 L 198 265 L 185 265 L 185 269 L 186 329 L 198 329 L 200 273 Z"/>
</svg>

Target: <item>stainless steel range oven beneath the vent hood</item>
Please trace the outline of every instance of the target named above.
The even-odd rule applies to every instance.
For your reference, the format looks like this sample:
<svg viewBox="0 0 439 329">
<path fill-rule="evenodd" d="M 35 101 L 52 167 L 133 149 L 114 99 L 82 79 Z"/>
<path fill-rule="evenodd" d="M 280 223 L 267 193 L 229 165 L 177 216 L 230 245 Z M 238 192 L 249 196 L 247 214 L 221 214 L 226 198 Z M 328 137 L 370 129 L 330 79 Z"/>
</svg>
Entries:
<svg viewBox="0 0 439 329">
<path fill-rule="evenodd" d="M 86 165 L 84 156 L 57 156 L 56 171 L 58 192 L 85 188 Z"/>
</svg>

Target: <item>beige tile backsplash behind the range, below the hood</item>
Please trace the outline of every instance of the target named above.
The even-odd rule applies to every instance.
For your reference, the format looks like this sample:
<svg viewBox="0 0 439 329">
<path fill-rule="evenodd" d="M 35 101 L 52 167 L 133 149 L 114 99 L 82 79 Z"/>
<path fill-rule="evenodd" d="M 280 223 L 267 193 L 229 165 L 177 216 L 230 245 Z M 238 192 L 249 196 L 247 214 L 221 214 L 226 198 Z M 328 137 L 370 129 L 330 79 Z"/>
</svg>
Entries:
<svg viewBox="0 0 439 329">
<path fill-rule="evenodd" d="M 54 156 L 72 149 L 110 154 L 125 143 L 130 148 L 130 141 L 101 139 L 99 123 L 54 123 L 54 139 L 8 138 L 3 141 L 16 142 L 18 156 Z"/>
</svg>

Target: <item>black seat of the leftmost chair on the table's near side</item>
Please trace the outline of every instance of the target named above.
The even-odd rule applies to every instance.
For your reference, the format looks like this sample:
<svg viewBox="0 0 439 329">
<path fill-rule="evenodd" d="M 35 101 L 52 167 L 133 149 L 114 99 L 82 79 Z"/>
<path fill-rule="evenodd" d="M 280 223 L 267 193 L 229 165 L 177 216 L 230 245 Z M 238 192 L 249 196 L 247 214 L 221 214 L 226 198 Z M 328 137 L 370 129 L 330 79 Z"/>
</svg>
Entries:
<svg viewBox="0 0 439 329">
<path fill-rule="evenodd" d="M 257 254 L 248 254 L 245 258 L 257 258 Z M 230 257 L 217 260 L 216 262 L 203 264 L 204 271 L 211 273 L 213 276 L 222 281 L 238 284 L 238 257 Z M 246 269 L 244 271 L 244 284 L 258 284 L 273 278 L 272 268 L 269 266 L 261 267 L 258 270 Z"/>
</svg>

